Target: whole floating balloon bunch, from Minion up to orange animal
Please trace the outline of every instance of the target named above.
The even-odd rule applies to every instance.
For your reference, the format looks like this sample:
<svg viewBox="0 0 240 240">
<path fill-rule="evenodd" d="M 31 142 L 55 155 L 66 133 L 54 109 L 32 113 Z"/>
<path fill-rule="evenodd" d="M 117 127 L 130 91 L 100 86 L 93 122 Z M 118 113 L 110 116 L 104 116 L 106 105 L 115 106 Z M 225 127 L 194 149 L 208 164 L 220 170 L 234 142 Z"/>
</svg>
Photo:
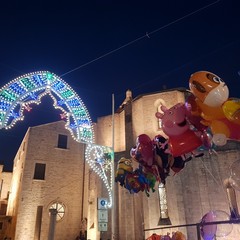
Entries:
<svg viewBox="0 0 240 240">
<path fill-rule="evenodd" d="M 152 140 L 141 134 L 130 151 L 131 159 L 119 160 L 115 181 L 130 192 L 145 191 L 149 196 L 156 182 L 165 184 L 170 169 L 178 173 L 193 157 L 203 156 L 203 150 L 211 153 L 228 139 L 240 140 L 240 99 L 228 98 L 224 81 L 200 71 L 191 75 L 189 87 L 185 103 L 169 109 L 162 105 L 155 114 L 167 138 L 157 135 Z M 139 163 L 135 170 L 132 160 Z"/>
</svg>

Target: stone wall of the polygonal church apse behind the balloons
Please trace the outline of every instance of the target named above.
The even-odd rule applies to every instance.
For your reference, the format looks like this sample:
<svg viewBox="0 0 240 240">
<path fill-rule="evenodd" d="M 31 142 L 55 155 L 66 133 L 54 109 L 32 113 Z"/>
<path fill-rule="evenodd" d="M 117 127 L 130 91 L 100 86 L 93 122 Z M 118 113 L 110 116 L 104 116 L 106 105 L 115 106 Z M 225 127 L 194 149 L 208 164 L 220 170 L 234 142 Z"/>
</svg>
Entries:
<svg viewBox="0 0 240 240">
<path fill-rule="evenodd" d="M 153 138 L 162 134 L 155 113 L 161 103 L 172 107 L 178 102 L 184 102 L 182 91 L 160 92 L 140 96 L 132 102 L 133 139 L 145 133 Z M 101 126 L 98 126 L 101 128 Z M 130 134 L 126 132 L 127 135 Z M 134 142 L 133 142 L 134 145 Z M 233 144 L 234 145 L 234 144 Z M 131 194 L 125 188 L 118 186 L 118 239 L 145 239 L 153 232 L 166 234 L 176 230 L 182 231 L 189 240 L 197 239 L 196 226 L 178 228 L 177 225 L 195 224 L 211 210 L 221 210 L 229 213 L 229 202 L 223 181 L 229 177 L 229 167 L 239 159 L 239 146 L 233 146 L 231 141 L 223 148 L 216 148 L 211 154 L 206 151 L 204 157 L 195 158 L 186 167 L 167 178 L 166 191 L 169 218 L 172 227 L 164 230 L 146 231 L 143 229 L 166 227 L 159 225 L 160 206 L 158 191 L 147 197 L 144 193 Z M 117 146 L 116 146 L 117 147 Z M 121 156 L 129 156 L 122 152 Z M 116 158 L 116 161 L 120 159 Z M 239 193 L 237 192 L 237 199 Z M 143 226 L 143 227 L 142 227 Z M 228 239 L 236 239 L 236 225 Z"/>
</svg>

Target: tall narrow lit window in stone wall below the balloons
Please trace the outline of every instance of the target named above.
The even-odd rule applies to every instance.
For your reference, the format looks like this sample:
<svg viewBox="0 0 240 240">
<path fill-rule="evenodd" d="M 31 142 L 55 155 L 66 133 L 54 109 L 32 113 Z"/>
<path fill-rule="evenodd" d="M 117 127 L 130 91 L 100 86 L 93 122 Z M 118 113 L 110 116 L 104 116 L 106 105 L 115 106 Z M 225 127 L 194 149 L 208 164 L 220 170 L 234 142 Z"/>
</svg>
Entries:
<svg viewBox="0 0 240 240">
<path fill-rule="evenodd" d="M 168 216 L 166 188 L 163 183 L 159 184 L 158 192 L 160 205 L 160 220 L 158 225 L 171 225 L 171 221 Z"/>
</svg>

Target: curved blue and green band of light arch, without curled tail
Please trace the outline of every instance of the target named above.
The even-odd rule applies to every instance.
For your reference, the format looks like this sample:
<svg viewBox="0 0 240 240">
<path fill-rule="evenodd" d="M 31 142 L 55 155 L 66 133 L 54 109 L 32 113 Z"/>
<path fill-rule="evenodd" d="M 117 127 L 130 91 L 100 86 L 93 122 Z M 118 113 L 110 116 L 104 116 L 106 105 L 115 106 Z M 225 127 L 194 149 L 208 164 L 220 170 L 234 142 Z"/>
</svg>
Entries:
<svg viewBox="0 0 240 240">
<path fill-rule="evenodd" d="M 0 129 L 9 129 L 24 119 L 30 104 L 40 104 L 49 95 L 54 107 L 66 115 L 66 128 L 76 141 L 92 143 L 92 121 L 82 100 L 57 75 L 48 71 L 20 76 L 0 89 Z"/>
</svg>

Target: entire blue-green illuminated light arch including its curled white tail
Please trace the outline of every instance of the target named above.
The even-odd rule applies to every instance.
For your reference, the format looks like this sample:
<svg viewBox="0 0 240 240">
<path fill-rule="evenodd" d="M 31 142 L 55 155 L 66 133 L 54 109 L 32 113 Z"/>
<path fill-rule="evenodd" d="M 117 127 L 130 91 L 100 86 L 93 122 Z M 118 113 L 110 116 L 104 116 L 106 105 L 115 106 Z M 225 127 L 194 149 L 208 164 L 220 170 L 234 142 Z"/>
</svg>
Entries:
<svg viewBox="0 0 240 240">
<path fill-rule="evenodd" d="M 0 129 L 9 129 L 22 121 L 24 110 L 29 111 L 31 104 L 40 104 L 45 95 L 49 95 L 53 99 L 53 106 L 63 112 L 65 127 L 72 137 L 78 142 L 87 143 L 87 161 L 105 183 L 110 207 L 113 170 L 109 164 L 113 161 L 113 151 L 93 144 L 94 132 L 87 108 L 76 92 L 56 74 L 49 71 L 28 73 L 3 86 L 0 89 Z"/>
</svg>

